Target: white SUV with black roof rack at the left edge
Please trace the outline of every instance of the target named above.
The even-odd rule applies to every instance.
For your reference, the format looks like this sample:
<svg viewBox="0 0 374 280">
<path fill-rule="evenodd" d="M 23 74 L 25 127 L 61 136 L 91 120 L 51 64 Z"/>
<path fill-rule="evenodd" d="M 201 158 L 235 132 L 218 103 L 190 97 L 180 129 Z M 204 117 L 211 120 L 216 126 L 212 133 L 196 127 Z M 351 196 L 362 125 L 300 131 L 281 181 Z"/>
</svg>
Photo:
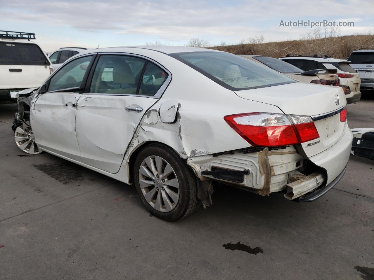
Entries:
<svg viewBox="0 0 374 280">
<path fill-rule="evenodd" d="M 12 101 L 10 91 L 39 87 L 53 71 L 47 55 L 30 39 L 34 33 L 0 31 L 1 102 Z"/>
</svg>

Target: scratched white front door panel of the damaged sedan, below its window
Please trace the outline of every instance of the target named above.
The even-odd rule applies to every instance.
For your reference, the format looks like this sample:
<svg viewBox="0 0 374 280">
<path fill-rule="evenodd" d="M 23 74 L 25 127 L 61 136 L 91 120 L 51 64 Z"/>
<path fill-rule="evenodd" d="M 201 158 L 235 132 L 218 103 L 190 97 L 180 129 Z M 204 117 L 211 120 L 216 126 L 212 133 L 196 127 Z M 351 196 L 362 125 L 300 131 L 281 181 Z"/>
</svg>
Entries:
<svg viewBox="0 0 374 280">
<path fill-rule="evenodd" d="M 80 96 L 74 92 L 51 92 L 37 97 L 30 118 L 42 149 L 80 161 L 75 133 L 76 103 Z"/>
</svg>

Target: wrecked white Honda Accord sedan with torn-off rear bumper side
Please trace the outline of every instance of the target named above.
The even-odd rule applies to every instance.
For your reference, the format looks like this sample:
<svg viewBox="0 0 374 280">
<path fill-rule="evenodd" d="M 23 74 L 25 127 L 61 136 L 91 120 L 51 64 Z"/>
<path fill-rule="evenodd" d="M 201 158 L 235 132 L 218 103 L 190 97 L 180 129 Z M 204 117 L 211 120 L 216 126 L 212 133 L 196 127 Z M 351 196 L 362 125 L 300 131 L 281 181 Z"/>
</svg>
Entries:
<svg viewBox="0 0 374 280">
<path fill-rule="evenodd" d="M 352 144 L 340 87 L 209 49 L 89 50 L 18 104 L 20 149 L 134 184 L 168 221 L 209 206 L 212 181 L 313 201 L 341 179 Z"/>
</svg>

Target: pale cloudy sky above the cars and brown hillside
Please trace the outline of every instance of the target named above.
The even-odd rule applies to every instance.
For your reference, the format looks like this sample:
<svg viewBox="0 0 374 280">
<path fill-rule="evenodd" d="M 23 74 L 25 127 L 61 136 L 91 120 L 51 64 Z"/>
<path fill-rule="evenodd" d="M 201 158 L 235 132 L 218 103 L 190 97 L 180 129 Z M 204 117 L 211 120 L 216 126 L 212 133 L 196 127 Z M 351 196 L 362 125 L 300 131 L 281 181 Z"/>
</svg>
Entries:
<svg viewBox="0 0 374 280">
<path fill-rule="evenodd" d="M 46 51 L 145 42 L 183 45 L 193 37 L 212 45 L 263 35 L 298 39 L 309 27 L 279 27 L 281 20 L 353 21 L 341 34 L 374 32 L 374 0 L 0 0 L 0 29 L 36 33 Z"/>
</svg>

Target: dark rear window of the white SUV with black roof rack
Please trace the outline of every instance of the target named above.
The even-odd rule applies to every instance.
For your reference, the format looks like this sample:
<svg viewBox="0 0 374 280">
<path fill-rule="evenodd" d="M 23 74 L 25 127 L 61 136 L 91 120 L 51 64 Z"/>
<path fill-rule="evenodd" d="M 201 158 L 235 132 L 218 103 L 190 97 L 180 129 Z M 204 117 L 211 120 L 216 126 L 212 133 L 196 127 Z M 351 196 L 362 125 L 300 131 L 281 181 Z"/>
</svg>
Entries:
<svg viewBox="0 0 374 280">
<path fill-rule="evenodd" d="M 0 42 L 0 65 L 49 65 L 36 44 Z"/>
</svg>

